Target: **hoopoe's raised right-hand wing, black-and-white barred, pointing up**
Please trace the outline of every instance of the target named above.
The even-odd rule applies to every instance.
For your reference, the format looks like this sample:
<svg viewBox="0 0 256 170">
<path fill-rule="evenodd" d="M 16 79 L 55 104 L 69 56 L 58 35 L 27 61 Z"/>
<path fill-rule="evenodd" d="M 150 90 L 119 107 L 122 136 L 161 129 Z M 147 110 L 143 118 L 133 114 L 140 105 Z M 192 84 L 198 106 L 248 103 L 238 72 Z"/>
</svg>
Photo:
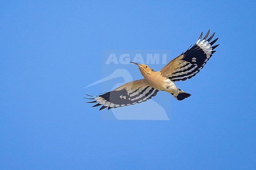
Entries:
<svg viewBox="0 0 256 170">
<path fill-rule="evenodd" d="M 219 46 L 219 44 L 212 46 L 218 40 L 218 38 L 209 43 L 215 33 L 213 33 L 213 35 L 206 40 L 209 33 L 210 30 L 204 38 L 202 38 L 203 33 L 201 33 L 196 44 L 187 49 L 185 53 L 182 53 L 180 56 L 171 60 L 171 62 L 161 69 L 161 73 L 172 81 L 184 81 L 194 77 L 200 71 L 200 69 L 204 67 L 213 53 L 216 52 L 213 51 L 213 49 Z"/>
</svg>

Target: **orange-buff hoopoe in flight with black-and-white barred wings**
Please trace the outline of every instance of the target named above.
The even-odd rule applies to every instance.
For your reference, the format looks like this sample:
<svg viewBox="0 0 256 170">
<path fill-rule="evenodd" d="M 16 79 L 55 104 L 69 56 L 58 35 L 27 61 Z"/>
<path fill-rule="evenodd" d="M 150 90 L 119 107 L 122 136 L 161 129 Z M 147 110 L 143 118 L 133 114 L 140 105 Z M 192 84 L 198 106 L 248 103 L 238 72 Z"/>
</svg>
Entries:
<svg viewBox="0 0 256 170">
<path fill-rule="evenodd" d="M 216 52 L 213 51 L 213 49 L 219 46 L 219 44 L 215 46 L 213 46 L 213 44 L 218 38 L 210 42 L 215 35 L 215 33 L 213 33 L 213 35 L 206 40 L 209 33 L 210 30 L 204 38 L 202 38 L 203 33 L 201 33 L 194 46 L 171 60 L 171 62 L 160 71 L 154 71 L 146 64 L 131 62 L 139 67 L 144 79 L 128 82 L 102 95 L 88 95 L 93 98 L 85 99 L 93 99 L 94 101 L 87 103 L 97 103 L 92 107 L 101 106 L 100 110 L 104 108 L 108 108 L 109 110 L 111 108 L 145 102 L 156 96 L 159 90 L 171 93 L 179 101 L 190 97 L 191 94 L 179 89 L 174 82 L 180 80 L 184 81 L 194 77 L 200 69 L 204 67 L 213 53 Z"/>
</svg>

